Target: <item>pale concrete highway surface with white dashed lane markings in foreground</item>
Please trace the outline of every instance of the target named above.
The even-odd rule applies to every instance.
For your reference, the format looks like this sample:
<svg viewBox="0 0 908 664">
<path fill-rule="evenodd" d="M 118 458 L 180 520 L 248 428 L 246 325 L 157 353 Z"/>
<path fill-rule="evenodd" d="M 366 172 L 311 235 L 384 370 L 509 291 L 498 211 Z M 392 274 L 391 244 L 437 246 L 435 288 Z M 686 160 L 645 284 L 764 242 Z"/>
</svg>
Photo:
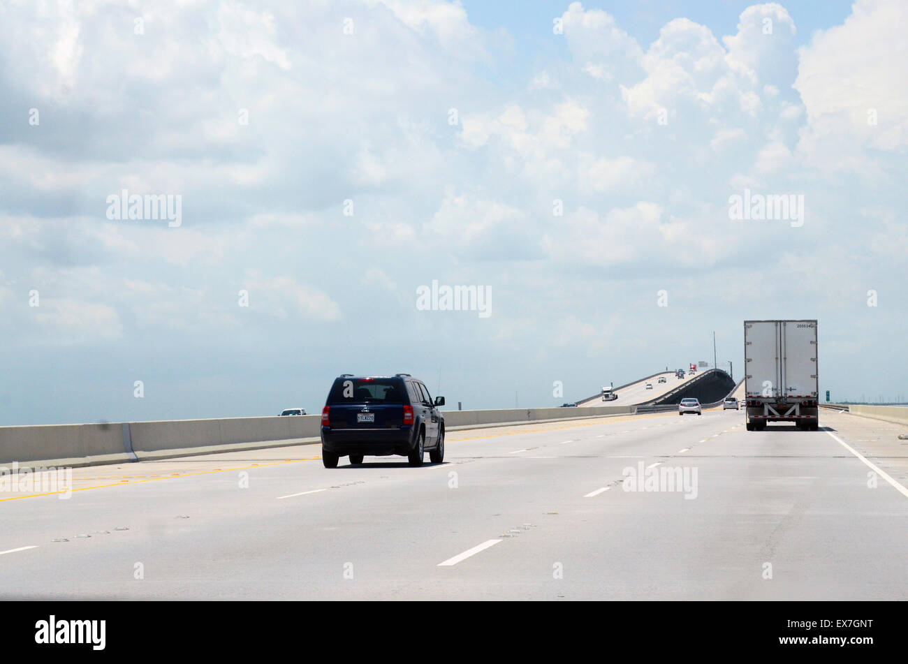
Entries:
<svg viewBox="0 0 908 664">
<path fill-rule="evenodd" d="M 820 424 L 714 410 L 452 432 L 419 468 L 327 470 L 319 445 L 79 468 L 67 500 L 0 493 L 0 597 L 904 600 L 906 427 Z M 627 469 L 687 482 L 629 492 Z"/>
</svg>

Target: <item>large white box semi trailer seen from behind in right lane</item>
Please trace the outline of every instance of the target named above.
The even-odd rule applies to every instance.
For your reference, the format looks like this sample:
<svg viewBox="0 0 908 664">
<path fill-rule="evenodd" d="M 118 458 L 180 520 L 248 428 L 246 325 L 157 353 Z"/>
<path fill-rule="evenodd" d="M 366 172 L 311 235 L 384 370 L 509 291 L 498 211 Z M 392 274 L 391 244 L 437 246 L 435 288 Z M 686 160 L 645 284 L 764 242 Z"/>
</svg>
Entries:
<svg viewBox="0 0 908 664">
<path fill-rule="evenodd" d="M 815 320 L 745 320 L 744 356 L 747 431 L 819 428 Z"/>
</svg>

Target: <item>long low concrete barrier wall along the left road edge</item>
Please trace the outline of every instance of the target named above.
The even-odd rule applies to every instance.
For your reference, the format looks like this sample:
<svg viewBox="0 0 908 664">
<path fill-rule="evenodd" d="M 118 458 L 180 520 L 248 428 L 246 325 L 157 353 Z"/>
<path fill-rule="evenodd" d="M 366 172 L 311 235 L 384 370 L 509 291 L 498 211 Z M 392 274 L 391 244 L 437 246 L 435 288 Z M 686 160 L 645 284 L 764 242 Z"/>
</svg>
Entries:
<svg viewBox="0 0 908 664">
<path fill-rule="evenodd" d="M 469 427 L 632 415 L 635 406 L 444 411 L 445 425 Z M 188 454 L 318 442 L 321 415 L 229 417 L 106 425 L 0 426 L 0 464 L 119 464 Z"/>
</svg>

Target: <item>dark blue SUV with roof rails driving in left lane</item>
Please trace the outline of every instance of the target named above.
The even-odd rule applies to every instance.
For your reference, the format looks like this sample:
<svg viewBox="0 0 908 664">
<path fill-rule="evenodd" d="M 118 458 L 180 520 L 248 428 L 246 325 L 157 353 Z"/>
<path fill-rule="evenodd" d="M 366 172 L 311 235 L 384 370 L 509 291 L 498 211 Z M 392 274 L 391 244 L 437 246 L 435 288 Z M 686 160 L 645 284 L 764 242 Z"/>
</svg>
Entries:
<svg viewBox="0 0 908 664">
<path fill-rule="evenodd" d="M 341 456 L 361 464 L 366 454 L 400 454 L 410 465 L 422 465 L 429 450 L 433 464 L 445 458 L 445 418 L 429 388 L 410 374 L 353 376 L 334 379 L 321 410 L 321 461 L 337 468 Z"/>
</svg>

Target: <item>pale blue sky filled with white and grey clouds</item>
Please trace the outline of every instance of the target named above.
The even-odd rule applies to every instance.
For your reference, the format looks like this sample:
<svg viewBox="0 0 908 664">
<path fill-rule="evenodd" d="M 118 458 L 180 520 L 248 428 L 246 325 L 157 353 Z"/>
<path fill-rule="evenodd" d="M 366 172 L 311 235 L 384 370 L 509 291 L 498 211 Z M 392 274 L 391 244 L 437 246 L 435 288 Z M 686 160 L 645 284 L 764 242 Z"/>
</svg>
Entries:
<svg viewBox="0 0 908 664">
<path fill-rule="evenodd" d="M 904 398 L 906 15 L 0 0 L 0 425 L 560 405 L 751 318 Z"/>
</svg>

